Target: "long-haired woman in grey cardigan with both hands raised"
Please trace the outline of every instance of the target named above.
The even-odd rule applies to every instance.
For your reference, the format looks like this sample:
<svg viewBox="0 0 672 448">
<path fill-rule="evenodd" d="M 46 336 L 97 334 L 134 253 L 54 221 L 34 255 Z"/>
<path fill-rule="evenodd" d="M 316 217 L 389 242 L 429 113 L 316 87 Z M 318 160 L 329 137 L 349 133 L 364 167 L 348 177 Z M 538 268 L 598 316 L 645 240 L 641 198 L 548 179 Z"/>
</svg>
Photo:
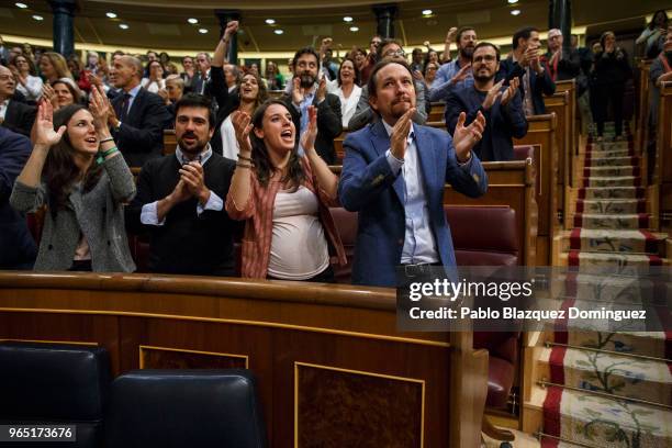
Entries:
<svg viewBox="0 0 672 448">
<path fill-rule="evenodd" d="M 110 102 L 93 89 L 90 111 L 43 101 L 35 146 L 10 198 L 21 212 L 46 205 L 35 270 L 131 272 L 123 204 L 135 195 L 133 175 L 107 126 Z"/>
</svg>

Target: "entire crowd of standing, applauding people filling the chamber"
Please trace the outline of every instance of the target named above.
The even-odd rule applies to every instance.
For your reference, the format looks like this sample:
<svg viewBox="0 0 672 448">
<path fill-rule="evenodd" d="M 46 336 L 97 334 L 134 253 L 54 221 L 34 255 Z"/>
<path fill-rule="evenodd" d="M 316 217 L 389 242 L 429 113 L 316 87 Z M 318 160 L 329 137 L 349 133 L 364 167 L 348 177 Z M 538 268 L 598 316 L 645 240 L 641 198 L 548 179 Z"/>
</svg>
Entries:
<svg viewBox="0 0 672 448">
<path fill-rule="evenodd" d="M 642 33 L 661 48 L 658 83 L 671 79 L 667 23 L 656 14 Z M 327 37 L 299 48 L 288 76 L 272 61 L 262 70 L 226 59 L 237 22 L 212 56 L 186 56 L 181 69 L 152 51 L 114 52 L 109 64 L 90 52 L 82 63 L 0 41 L 0 225 L 20 235 L 0 237 L 0 267 L 133 271 L 127 229 L 148 238 L 152 271 L 231 276 L 242 233 L 244 277 L 332 281 L 329 260 L 345 259 L 329 206 L 359 212 L 355 282 L 393 284 L 400 264 L 455 265 L 444 184 L 483 194 L 480 163 L 513 159 L 513 138 L 545 112 L 556 81 L 576 79 L 597 135 L 613 102 L 618 135 L 631 77 L 611 32 L 593 49 L 571 36 L 568 51 L 569 36 L 551 30 L 544 53 L 539 30 L 523 27 L 502 55 L 477 31 L 451 27 L 443 52 L 425 42 L 411 55 L 378 35 L 341 55 Z M 445 130 L 426 125 L 436 101 Z M 168 128 L 178 145 L 164 155 Z M 328 166 L 344 130 L 336 176 Z M 137 189 L 128 168 L 139 170 Z M 21 213 L 38 209 L 36 250 Z"/>
</svg>

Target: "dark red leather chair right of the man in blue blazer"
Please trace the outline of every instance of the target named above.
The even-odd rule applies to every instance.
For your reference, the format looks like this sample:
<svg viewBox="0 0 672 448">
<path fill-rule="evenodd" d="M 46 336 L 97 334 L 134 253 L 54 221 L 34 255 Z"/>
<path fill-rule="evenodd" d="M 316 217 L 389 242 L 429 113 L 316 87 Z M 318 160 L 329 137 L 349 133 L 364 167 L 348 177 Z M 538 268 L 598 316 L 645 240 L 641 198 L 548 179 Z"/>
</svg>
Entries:
<svg viewBox="0 0 672 448">
<path fill-rule="evenodd" d="M 516 233 L 516 212 L 508 206 L 444 206 L 450 223 L 458 266 L 517 266 L 522 257 Z M 474 225 L 483 223 L 486 227 Z M 519 332 L 474 332 L 473 348 L 489 352 L 488 399 L 490 407 L 506 406 L 516 378 Z M 483 419 L 483 432 L 499 440 L 513 434 Z"/>
</svg>

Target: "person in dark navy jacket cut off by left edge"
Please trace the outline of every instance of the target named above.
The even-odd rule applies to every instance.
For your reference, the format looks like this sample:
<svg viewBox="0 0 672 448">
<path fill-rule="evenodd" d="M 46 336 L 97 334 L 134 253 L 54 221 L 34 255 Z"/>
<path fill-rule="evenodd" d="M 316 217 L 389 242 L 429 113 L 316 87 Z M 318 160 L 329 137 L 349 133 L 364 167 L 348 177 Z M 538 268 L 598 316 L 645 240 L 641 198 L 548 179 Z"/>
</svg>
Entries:
<svg viewBox="0 0 672 448">
<path fill-rule="evenodd" d="M 37 255 L 25 215 L 9 203 L 32 148 L 27 137 L 0 127 L 0 269 L 31 269 Z"/>
</svg>

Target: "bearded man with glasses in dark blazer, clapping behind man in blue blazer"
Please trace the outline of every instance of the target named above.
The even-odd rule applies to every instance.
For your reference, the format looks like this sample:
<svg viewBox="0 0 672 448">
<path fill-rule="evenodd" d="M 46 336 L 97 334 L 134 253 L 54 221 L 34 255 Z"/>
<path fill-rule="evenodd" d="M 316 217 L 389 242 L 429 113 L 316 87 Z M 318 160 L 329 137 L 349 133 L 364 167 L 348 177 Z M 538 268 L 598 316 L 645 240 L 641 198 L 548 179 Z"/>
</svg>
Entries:
<svg viewBox="0 0 672 448">
<path fill-rule="evenodd" d="M 473 152 L 483 161 L 513 160 L 513 138 L 527 134 L 527 120 L 518 93 L 518 78 L 508 87 L 503 80 L 495 83 L 500 69 L 500 49 L 489 42 L 478 44 L 471 56 L 473 86 L 450 92 L 446 99 L 446 126 L 452 135 L 461 112 L 467 123 L 478 113 L 485 116 L 488 126 Z"/>
</svg>

